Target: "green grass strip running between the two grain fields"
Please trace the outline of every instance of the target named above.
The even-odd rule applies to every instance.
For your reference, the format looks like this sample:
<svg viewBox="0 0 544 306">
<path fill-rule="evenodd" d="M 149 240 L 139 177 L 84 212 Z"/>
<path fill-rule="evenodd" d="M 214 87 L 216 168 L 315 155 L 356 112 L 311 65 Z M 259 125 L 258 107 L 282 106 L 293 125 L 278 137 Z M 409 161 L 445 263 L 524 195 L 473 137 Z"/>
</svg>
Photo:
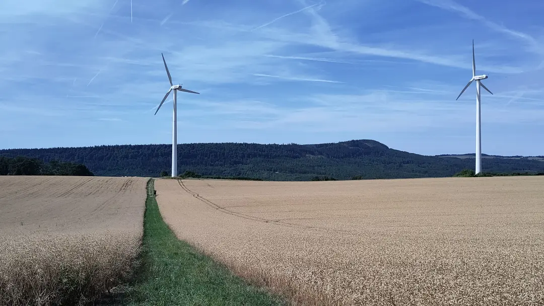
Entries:
<svg viewBox="0 0 544 306">
<path fill-rule="evenodd" d="M 118 305 L 284 305 L 180 241 L 160 216 L 148 183 L 143 266 Z"/>
</svg>

